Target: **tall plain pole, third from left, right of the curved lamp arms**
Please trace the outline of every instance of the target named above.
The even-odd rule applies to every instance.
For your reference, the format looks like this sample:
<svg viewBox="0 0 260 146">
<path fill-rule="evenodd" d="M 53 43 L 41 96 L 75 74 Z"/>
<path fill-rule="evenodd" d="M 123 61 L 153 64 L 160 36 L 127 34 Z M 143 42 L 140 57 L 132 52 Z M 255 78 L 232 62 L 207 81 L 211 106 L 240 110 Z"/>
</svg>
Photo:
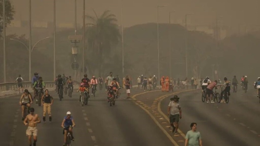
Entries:
<svg viewBox="0 0 260 146">
<path fill-rule="evenodd" d="M 53 78 L 56 77 L 56 0 L 53 0 L 53 31 L 54 31 L 54 43 L 53 43 Z"/>
</svg>

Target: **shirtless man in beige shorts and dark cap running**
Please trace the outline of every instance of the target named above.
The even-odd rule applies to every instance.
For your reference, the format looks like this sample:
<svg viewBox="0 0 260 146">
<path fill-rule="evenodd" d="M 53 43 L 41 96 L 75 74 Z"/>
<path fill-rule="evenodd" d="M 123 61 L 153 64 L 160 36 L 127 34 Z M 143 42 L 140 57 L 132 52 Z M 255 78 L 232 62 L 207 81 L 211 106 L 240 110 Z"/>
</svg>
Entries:
<svg viewBox="0 0 260 146">
<path fill-rule="evenodd" d="M 24 125 L 28 128 L 26 130 L 26 135 L 28 136 L 29 145 L 32 146 L 31 137 L 33 136 L 33 146 L 36 146 L 37 141 L 37 123 L 41 123 L 41 120 L 37 114 L 34 114 L 34 108 L 30 108 L 30 115 L 27 115 L 23 121 Z M 28 123 L 27 123 L 28 122 Z"/>
</svg>

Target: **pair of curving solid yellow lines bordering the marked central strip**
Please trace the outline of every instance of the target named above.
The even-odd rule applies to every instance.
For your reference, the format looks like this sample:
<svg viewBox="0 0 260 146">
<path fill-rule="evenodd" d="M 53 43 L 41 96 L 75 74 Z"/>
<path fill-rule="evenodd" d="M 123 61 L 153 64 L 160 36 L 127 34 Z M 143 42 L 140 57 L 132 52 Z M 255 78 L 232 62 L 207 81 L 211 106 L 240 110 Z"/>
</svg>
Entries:
<svg viewBox="0 0 260 146">
<path fill-rule="evenodd" d="M 167 94 L 167 95 L 162 95 L 160 97 L 158 97 L 157 99 L 159 99 L 159 102 L 158 102 L 158 112 L 164 116 L 164 118 L 168 121 L 168 123 L 170 124 L 170 119 L 168 118 L 168 116 L 166 116 L 162 111 L 161 111 L 161 101 L 166 98 L 166 97 L 169 97 L 171 95 L 174 95 L 174 94 L 179 94 L 181 92 L 188 92 L 188 91 L 193 91 L 193 90 L 196 90 L 196 89 L 192 89 L 192 90 L 185 90 L 185 91 L 179 91 L 179 92 L 174 92 L 174 93 L 171 93 L 171 94 Z M 160 91 L 160 90 L 155 90 L 155 91 Z M 147 92 L 155 92 L 155 91 L 147 91 Z M 142 95 L 142 94 L 145 94 L 147 92 L 144 92 L 144 93 L 140 93 L 140 94 L 136 94 L 136 95 L 133 95 L 132 98 L 133 100 L 136 100 L 135 97 L 138 96 L 138 95 Z M 156 118 L 147 110 L 145 109 L 142 105 L 140 105 L 138 102 L 135 102 L 136 105 L 138 105 L 140 108 L 142 108 L 152 119 L 153 121 L 155 122 L 155 124 L 158 125 L 158 127 L 164 132 L 164 134 L 169 138 L 169 140 L 175 145 L 175 146 L 179 146 L 177 144 L 176 141 L 173 140 L 172 136 L 161 126 L 161 124 L 156 120 Z M 183 132 L 178 129 L 178 132 L 180 133 L 180 135 L 185 139 L 185 134 L 183 134 Z"/>
</svg>

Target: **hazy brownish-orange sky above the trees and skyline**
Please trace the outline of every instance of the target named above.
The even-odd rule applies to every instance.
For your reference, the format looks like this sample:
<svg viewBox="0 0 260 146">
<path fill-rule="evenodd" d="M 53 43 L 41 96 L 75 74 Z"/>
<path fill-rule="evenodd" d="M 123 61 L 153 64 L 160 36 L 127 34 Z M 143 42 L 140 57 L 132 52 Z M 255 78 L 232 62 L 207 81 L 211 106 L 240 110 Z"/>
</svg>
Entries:
<svg viewBox="0 0 260 146">
<path fill-rule="evenodd" d="M 10 0 L 14 5 L 15 20 L 28 20 L 29 0 Z M 53 0 L 31 0 L 32 21 L 53 21 Z M 56 0 L 56 22 L 74 23 L 74 0 Z M 121 0 L 86 0 L 86 14 L 94 15 L 93 9 L 101 14 L 111 10 L 121 25 Z M 77 0 L 77 23 L 82 24 L 83 0 Z M 223 16 L 221 23 L 237 25 L 259 23 L 259 0 L 123 0 L 124 26 L 156 22 L 157 5 L 168 5 L 160 8 L 159 22 L 168 23 L 169 11 L 175 10 L 172 21 L 181 22 L 185 14 L 194 13 L 189 22 L 193 25 L 215 23 L 216 16 Z"/>
</svg>

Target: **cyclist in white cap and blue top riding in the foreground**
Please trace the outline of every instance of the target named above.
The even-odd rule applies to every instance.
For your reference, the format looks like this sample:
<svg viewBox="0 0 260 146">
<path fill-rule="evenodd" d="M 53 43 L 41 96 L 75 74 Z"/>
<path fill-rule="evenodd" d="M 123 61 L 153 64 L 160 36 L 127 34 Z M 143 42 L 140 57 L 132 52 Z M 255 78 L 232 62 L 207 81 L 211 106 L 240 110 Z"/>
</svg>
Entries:
<svg viewBox="0 0 260 146">
<path fill-rule="evenodd" d="M 71 127 L 69 127 L 71 126 Z M 71 112 L 68 111 L 67 112 L 67 116 L 64 117 L 62 123 L 61 123 L 61 127 L 63 127 L 63 134 L 64 134 L 64 144 L 66 143 L 66 139 L 67 139 L 67 134 L 68 134 L 68 130 L 71 134 L 72 140 L 74 141 L 74 137 L 72 135 L 72 128 L 75 126 L 73 117 L 71 116 Z"/>
</svg>

